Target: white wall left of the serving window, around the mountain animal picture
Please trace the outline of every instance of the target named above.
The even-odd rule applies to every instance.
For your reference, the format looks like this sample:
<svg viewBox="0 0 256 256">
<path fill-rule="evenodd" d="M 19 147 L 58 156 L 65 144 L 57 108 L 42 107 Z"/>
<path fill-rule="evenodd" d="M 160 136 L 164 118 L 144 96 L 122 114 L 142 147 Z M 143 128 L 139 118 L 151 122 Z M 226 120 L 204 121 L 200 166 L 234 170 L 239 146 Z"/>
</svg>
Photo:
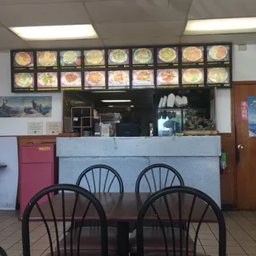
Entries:
<svg viewBox="0 0 256 256">
<path fill-rule="evenodd" d="M 31 93 L 11 92 L 11 59 L 9 53 L 0 53 L 0 96 L 32 96 Z M 62 97 L 60 92 L 33 93 L 33 96 L 52 96 L 52 116 L 43 118 L 0 118 L 0 135 L 27 135 L 27 123 L 42 121 L 44 134 L 46 122 L 62 121 Z"/>
</svg>

